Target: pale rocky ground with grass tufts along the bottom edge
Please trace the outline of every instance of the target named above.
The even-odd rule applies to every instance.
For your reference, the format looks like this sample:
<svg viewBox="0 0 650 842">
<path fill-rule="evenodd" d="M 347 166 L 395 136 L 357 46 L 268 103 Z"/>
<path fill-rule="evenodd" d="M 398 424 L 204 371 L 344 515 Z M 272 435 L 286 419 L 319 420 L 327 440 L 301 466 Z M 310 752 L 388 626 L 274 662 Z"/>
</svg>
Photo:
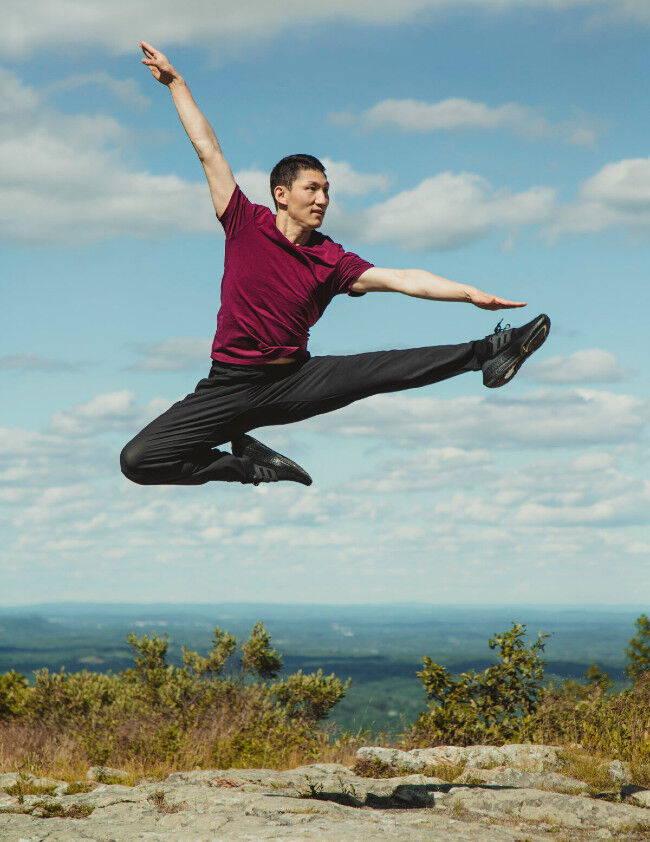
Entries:
<svg viewBox="0 0 650 842">
<path fill-rule="evenodd" d="M 78 785 L 4 774 L 0 840 L 650 840 L 650 790 L 631 785 L 624 764 L 609 764 L 611 786 L 598 792 L 564 775 L 552 746 L 365 748 L 357 760 L 359 771 L 399 776 L 336 764 L 177 772 L 135 786 L 97 781 L 116 770 L 92 769 Z"/>
</svg>

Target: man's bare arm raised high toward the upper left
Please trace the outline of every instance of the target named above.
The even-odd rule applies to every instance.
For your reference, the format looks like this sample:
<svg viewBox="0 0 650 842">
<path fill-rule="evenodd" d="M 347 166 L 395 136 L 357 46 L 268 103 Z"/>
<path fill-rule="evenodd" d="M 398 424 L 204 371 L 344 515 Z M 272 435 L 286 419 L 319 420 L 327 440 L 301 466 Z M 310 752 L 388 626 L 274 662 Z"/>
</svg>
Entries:
<svg viewBox="0 0 650 842">
<path fill-rule="evenodd" d="M 217 136 L 199 111 L 185 80 L 167 57 L 146 41 L 140 41 L 140 46 L 145 55 L 142 63 L 151 70 L 154 79 L 169 88 L 183 128 L 203 164 L 214 209 L 222 216 L 235 189 L 235 178 L 223 157 Z"/>
</svg>

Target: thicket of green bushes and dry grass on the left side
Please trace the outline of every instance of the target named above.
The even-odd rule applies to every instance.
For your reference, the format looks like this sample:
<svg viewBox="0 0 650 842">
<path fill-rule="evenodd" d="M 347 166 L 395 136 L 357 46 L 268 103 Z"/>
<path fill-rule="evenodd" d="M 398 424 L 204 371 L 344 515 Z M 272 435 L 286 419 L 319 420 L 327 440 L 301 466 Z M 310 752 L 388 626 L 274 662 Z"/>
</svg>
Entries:
<svg viewBox="0 0 650 842">
<path fill-rule="evenodd" d="M 328 738 L 316 726 L 349 686 L 320 670 L 278 679 L 282 658 L 262 623 L 239 658 L 235 638 L 217 628 L 208 655 L 183 649 L 180 667 L 166 662 L 166 635 L 127 640 L 134 667 L 117 675 L 43 669 L 33 686 L 15 672 L 0 676 L 3 765 L 10 755 L 20 765 L 21 745 L 32 764 L 41 757 L 48 768 L 45 754 L 143 773 L 162 766 L 285 765 L 323 752 Z"/>
</svg>

